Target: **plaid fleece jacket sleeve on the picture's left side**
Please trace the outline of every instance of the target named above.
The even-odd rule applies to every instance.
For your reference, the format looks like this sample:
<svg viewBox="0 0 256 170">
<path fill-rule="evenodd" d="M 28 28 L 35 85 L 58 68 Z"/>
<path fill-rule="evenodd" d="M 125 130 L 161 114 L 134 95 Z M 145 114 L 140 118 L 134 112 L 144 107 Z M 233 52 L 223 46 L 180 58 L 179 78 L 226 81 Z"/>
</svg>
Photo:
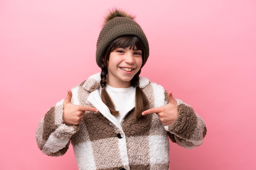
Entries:
<svg viewBox="0 0 256 170">
<path fill-rule="evenodd" d="M 47 111 L 36 129 L 37 145 L 49 156 L 64 155 L 70 145 L 70 138 L 78 130 L 78 126 L 63 123 L 63 101 Z"/>
</svg>

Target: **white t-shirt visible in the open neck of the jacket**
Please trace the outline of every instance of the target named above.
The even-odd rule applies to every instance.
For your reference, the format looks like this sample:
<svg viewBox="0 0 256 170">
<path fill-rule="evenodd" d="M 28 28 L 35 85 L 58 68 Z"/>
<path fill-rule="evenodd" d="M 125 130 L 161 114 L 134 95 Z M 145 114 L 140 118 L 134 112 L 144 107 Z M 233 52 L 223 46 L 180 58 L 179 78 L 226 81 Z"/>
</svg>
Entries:
<svg viewBox="0 0 256 170">
<path fill-rule="evenodd" d="M 119 116 L 115 116 L 118 122 L 121 122 L 124 115 L 128 113 L 132 108 L 135 107 L 135 87 L 128 88 L 115 88 L 106 85 L 106 91 L 112 99 L 115 110 L 119 111 Z"/>
</svg>

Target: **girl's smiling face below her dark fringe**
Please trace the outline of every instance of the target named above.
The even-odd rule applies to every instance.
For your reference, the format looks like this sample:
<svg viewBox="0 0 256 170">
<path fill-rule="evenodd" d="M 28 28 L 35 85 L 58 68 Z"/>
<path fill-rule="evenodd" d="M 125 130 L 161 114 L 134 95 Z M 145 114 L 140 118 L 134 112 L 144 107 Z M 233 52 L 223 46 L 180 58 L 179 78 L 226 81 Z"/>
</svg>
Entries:
<svg viewBox="0 0 256 170">
<path fill-rule="evenodd" d="M 142 51 L 129 48 L 116 48 L 110 52 L 106 81 L 111 87 L 130 87 L 130 81 L 141 68 Z"/>
</svg>

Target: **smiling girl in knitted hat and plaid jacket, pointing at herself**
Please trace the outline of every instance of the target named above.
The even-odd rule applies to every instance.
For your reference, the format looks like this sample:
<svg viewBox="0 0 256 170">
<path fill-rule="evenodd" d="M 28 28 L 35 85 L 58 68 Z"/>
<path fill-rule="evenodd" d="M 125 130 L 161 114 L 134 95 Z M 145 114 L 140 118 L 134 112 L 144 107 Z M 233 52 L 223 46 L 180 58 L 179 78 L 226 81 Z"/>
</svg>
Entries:
<svg viewBox="0 0 256 170">
<path fill-rule="evenodd" d="M 97 41 L 101 73 L 68 90 L 47 111 L 36 131 L 40 150 L 60 156 L 71 142 L 79 170 L 168 170 L 169 138 L 185 148 L 201 145 L 202 118 L 139 77 L 148 56 L 148 41 L 134 17 L 110 11 Z"/>
</svg>

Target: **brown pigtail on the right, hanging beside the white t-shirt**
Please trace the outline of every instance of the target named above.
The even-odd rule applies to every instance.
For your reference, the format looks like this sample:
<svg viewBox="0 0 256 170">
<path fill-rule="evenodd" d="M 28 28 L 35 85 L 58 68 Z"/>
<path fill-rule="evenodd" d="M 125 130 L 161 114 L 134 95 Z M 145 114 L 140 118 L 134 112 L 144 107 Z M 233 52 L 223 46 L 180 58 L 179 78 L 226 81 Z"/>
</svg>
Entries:
<svg viewBox="0 0 256 170">
<path fill-rule="evenodd" d="M 141 113 L 146 110 L 149 105 L 149 101 L 145 93 L 139 87 L 139 74 L 141 70 L 135 74 L 132 78 L 131 85 L 136 87 L 135 94 L 135 118 L 140 119 L 142 117 Z"/>
</svg>

